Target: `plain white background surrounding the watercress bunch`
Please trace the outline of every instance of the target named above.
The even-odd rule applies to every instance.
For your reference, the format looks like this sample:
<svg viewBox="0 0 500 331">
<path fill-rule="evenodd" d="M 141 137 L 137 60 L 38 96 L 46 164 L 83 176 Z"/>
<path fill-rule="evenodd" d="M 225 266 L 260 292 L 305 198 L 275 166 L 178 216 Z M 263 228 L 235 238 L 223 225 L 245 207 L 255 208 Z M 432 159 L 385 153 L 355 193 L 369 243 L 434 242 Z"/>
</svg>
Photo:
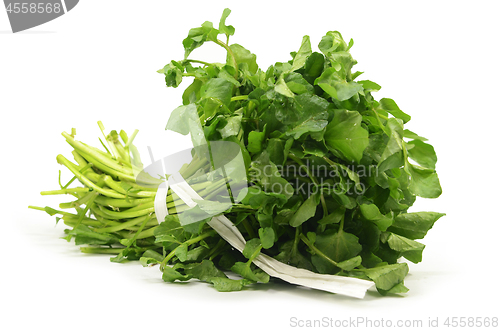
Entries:
<svg viewBox="0 0 500 331">
<path fill-rule="evenodd" d="M 239 3 L 85 0 L 18 34 L 0 9 L 0 297 L 7 307 L 0 328 L 285 330 L 293 317 L 421 319 L 424 326 L 429 318 L 442 325 L 447 317 L 500 317 L 497 3 Z M 361 78 L 380 84 L 375 96 L 395 99 L 413 117 L 406 128 L 434 145 L 444 193 L 411 210 L 447 216 L 422 240 L 423 262 L 410 263 L 407 295 L 359 300 L 286 284 L 234 293 L 167 284 L 157 267 L 81 254 L 59 239 L 64 225 L 27 208 L 66 201 L 39 192 L 58 187 L 56 155 L 71 156 L 60 133 L 72 127 L 94 145 L 102 120 L 107 131 L 139 129 L 142 148 L 185 146 L 164 127 L 187 85 L 167 89 L 156 70 L 182 59 L 188 30 L 218 24 L 225 7 L 236 28 L 231 41 L 257 54 L 264 69 L 288 61 L 305 34 L 315 50 L 329 30 L 353 38 Z M 225 60 L 222 49 L 204 48 L 191 57 Z"/>
</svg>

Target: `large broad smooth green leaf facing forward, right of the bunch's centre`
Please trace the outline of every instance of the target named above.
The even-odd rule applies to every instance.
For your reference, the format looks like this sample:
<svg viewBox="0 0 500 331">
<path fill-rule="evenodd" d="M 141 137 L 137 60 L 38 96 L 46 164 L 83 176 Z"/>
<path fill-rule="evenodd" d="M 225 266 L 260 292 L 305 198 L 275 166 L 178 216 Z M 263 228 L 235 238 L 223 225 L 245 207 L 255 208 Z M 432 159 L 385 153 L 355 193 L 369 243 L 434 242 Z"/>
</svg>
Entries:
<svg viewBox="0 0 500 331">
<path fill-rule="evenodd" d="M 335 109 L 334 114 L 326 126 L 325 144 L 339 150 L 347 161 L 359 162 L 369 142 L 368 131 L 361 127 L 361 115 L 345 109 Z"/>
</svg>

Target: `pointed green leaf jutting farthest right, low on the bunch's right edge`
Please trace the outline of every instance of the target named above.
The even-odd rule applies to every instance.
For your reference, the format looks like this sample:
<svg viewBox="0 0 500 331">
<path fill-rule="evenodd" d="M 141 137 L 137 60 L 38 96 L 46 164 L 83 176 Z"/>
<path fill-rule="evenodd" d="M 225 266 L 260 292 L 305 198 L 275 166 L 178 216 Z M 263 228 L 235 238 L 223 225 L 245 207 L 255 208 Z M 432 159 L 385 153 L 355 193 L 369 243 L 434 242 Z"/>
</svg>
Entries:
<svg viewBox="0 0 500 331">
<path fill-rule="evenodd" d="M 446 214 L 421 211 L 396 216 L 388 231 L 410 239 L 423 239 L 434 223 Z"/>
</svg>

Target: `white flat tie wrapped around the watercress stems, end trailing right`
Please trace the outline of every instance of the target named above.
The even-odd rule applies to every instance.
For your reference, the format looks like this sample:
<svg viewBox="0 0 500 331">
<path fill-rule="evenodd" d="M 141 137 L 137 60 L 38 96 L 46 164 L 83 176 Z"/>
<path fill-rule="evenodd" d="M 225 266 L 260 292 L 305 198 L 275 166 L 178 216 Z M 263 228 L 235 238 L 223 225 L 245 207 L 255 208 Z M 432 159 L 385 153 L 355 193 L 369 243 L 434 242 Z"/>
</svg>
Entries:
<svg viewBox="0 0 500 331">
<path fill-rule="evenodd" d="M 175 173 L 170 176 L 169 184 L 172 191 L 174 191 L 189 207 L 196 206 L 196 202 L 194 200 L 202 200 L 198 193 L 196 193 L 196 191 L 194 191 L 193 188 L 186 183 L 184 178 L 182 178 L 179 173 Z M 165 199 L 163 201 L 165 201 Z M 245 238 L 233 222 L 231 222 L 226 216 L 218 215 L 212 217 L 207 224 L 217 231 L 217 233 L 231 246 L 240 252 L 243 251 L 246 244 Z M 375 285 L 372 281 L 364 279 L 317 274 L 310 270 L 296 268 L 273 259 L 264 253 L 260 253 L 253 260 L 253 263 L 269 276 L 280 278 L 288 283 L 359 299 L 362 299 L 365 296 L 366 291 Z"/>
</svg>

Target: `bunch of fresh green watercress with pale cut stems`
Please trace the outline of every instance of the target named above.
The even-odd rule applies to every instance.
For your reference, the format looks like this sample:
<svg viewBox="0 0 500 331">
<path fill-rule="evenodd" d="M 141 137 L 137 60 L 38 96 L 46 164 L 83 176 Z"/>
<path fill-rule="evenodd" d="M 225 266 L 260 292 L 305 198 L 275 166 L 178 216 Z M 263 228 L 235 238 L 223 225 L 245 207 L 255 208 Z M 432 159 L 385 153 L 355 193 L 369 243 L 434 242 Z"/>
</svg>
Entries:
<svg viewBox="0 0 500 331">
<path fill-rule="evenodd" d="M 62 215 L 72 227 L 65 238 L 88 245 L 82 251 L 118 254 L 111 258 L 115 262 L 160 264 L 165 281 L 196 278 L 220 291 L 268 282 L 252 264 L 264 252 L 314 272 L 372 280 L 382 294 L 406 292 L 408 265 L 401 258 L 419 263 L 425 246 L 416 240 L 444 215 L 408 212 L 417 196 L 441 194 L 434 148 L 404 128 L 410 116 L 392 99 L 374 99 L 378 84 L 357 80 L 352 40 L 346 43 L 339 32 L 329 31 L 320 52 L 313 52 L 304 36 L 289 61 L 263 71 L 256 55 L 229 43 L 235 31 L 226 25 L 229 13 L 224 10 L 218 28 L 205 22 L 191 29 L 183 41 L 184 59 L 159 72 L 171 87 L 193 78 L 168 130 L 191 134 L 194 146 L 213 141 L 240 146 L 249 187 L 224 214 L 247 241 L 243 254 L 220 238 L 208 219 L 181 225 L 177 214 L 188 208 L 171 191 L 169 215 L 156 219 L 156 186 L 136 182 L 134 167 L 140 170 L 142 164 L 133 137 L 124 132 L 107 135 L 106 151 L 64 134 L 77 164 L 63 156 L 58 162 L 83 187 L 60 183 L 59 190 L 44 194 L 73 195 L 76 200 L 60 209 L 76 213 L 39 209 Z M 224 63 L 191 57 L 206 42 L 227 51 Z M 200 195 L 214 197 L 220 186 L 199 182 L 208 165 L 195 155 L 181 174 Z M 228 278 L 229 270 L 241 277 Z"/>
</svg>

